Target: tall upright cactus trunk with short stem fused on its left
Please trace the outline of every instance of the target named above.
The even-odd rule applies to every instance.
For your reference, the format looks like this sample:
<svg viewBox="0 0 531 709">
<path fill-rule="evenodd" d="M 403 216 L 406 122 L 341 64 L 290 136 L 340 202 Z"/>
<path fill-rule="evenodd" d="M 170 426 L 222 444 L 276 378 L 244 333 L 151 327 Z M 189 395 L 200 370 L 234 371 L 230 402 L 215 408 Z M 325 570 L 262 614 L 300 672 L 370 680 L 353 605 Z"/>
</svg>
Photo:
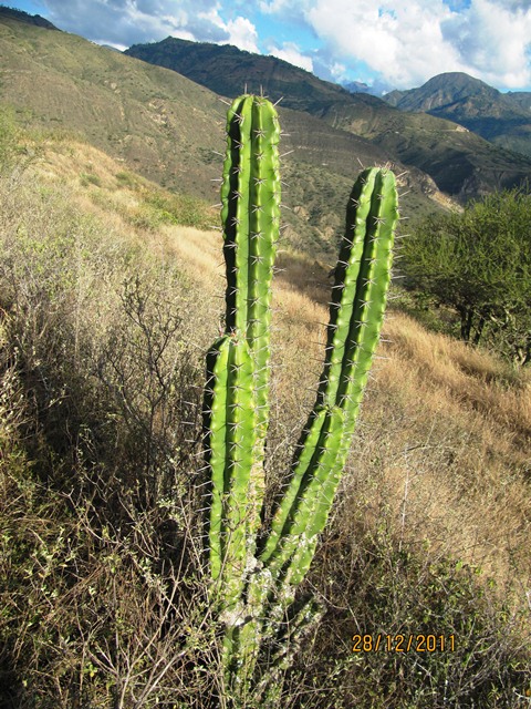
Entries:
<svg viewBox="0 0 531 709">
<path fill-rule="evenodd" d="M 235 666 L 240 666 L 238 679 L 250 674 L 258 647 L 251 628 L 241 633 L 241 627 L 264 490 L 271 280 L 280 228 L 279 134 L 269 101 L 244 95 L 230 106 L 221 186 L 226 335 L 207 358 L 205 397 L 211 597 L 225 623 L 222 661 L 229 685 Z"/>
</svg>

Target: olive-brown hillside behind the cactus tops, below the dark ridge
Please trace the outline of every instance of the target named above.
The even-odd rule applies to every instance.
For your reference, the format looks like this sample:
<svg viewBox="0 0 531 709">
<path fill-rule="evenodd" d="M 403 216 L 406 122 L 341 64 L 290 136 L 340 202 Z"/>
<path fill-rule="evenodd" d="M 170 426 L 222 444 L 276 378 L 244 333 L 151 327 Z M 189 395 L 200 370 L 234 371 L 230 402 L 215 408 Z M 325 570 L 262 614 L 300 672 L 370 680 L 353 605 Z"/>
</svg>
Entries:
<svg viewBox="0 0 531 709">
<path fill-rule="evenodd" d="M 226 106 L 211 91 L 80 37 L 2 17 L 0 78 L 0 102 L 22 124 L 80 135 L 179 194 L 218 201 L 212 181 L 225 151 Z M 392 156 L 308 113 L 280 111 L 285 236 L 302 249 L 330 255 L 360 163 L 384 164 Z M 398 162 L 397 172 L 405 171 Z M 445 202 L 415 168 L 404 174 L 403 189 L 410 215 Z"/>
</svg>

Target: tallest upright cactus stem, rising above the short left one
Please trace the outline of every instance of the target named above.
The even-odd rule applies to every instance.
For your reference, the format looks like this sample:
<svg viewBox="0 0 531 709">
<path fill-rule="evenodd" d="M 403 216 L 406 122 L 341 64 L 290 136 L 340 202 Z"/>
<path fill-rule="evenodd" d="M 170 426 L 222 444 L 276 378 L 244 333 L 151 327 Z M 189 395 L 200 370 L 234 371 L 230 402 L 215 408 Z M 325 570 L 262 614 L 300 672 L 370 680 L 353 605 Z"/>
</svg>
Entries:
<svg viewBox="0 0 531 709">
<path fill-rule="evenodd" d="M 221 185 L 227 265 L 226 328 L 248 341 L 254 364 L 257 407 L 252 486 L 254 530 L 263 499 L 263 458 L 269 423 L 271 280 L 280 229 L 280 126 L 262 96 L 236 99 L 227 116 L 227 153 Z"/>
</svg>

